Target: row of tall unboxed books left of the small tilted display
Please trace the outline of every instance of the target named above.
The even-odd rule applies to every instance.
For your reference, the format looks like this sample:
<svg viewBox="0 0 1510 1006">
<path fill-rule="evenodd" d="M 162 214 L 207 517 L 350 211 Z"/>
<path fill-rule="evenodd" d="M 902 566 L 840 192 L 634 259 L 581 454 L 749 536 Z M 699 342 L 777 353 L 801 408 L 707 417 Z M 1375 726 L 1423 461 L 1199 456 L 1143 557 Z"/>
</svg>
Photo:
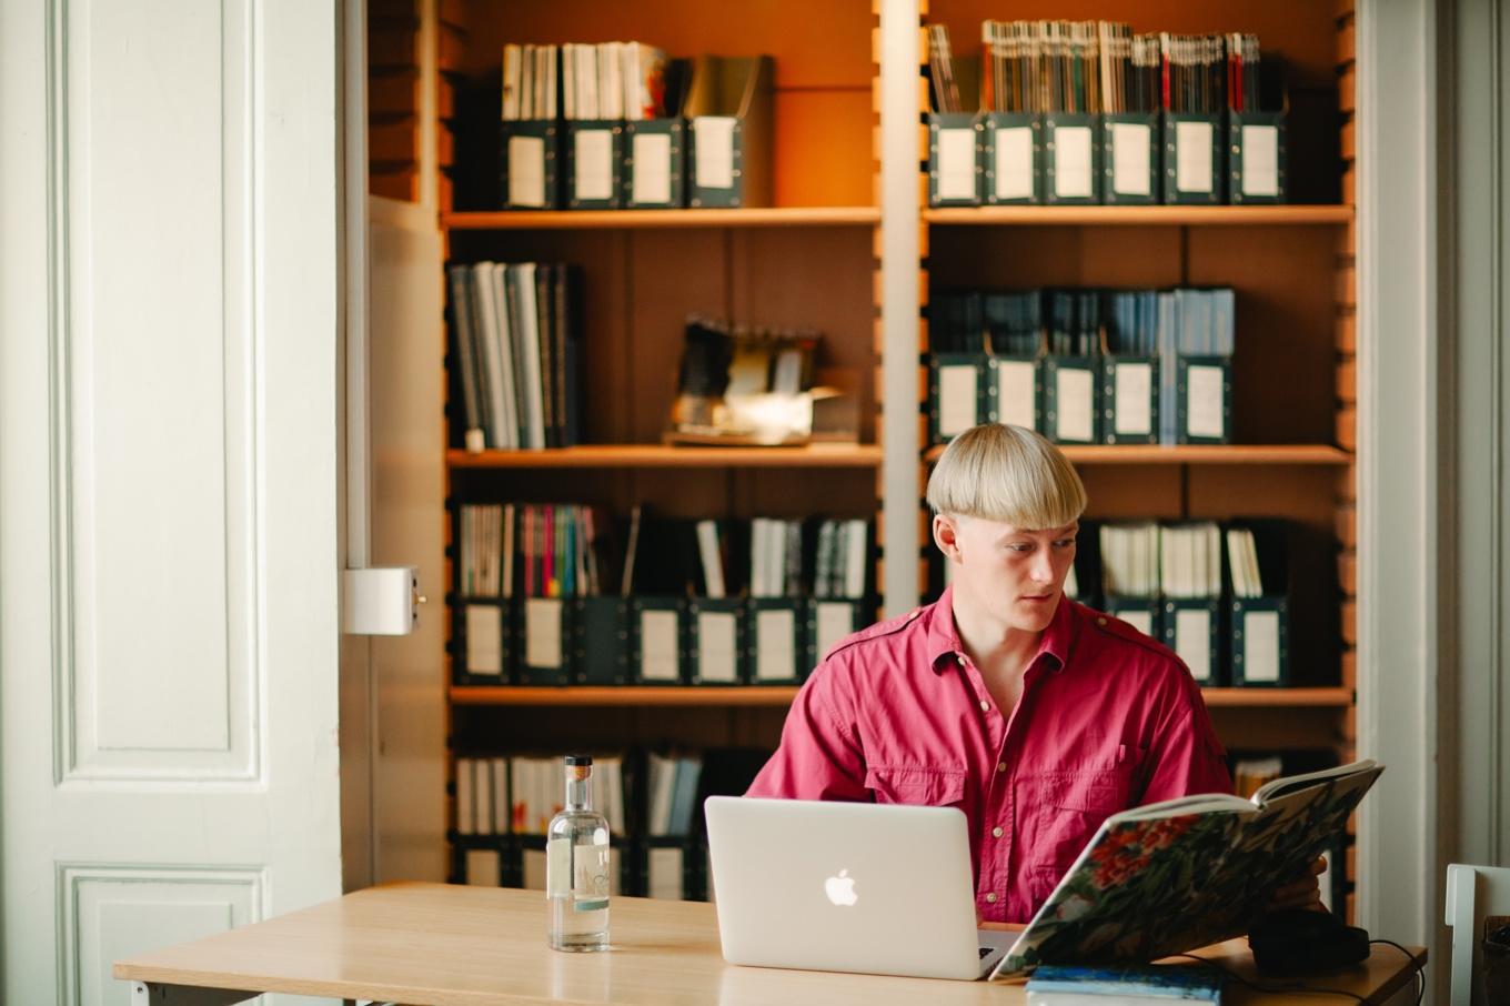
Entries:
<svg viewBox="0 0 1510 1006">
<path fill-rule="evenodd" d="M 447 267 L 467 450 L 565 447 L 581 437 L 580 299 L 563 264 Z"/>
</svg>

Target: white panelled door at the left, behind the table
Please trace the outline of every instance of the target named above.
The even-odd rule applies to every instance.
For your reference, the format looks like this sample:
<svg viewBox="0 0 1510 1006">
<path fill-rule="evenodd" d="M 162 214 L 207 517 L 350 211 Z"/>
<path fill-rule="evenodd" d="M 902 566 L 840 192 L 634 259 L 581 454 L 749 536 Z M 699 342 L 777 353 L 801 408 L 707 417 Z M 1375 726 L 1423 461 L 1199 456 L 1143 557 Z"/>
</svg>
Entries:
<svg viewBox="0 0 1510 1006">
<path fill-rule="evenodd" d="M 337 0 L 0 0 L 0 1000 L 340 893 Z"/>
</svg>

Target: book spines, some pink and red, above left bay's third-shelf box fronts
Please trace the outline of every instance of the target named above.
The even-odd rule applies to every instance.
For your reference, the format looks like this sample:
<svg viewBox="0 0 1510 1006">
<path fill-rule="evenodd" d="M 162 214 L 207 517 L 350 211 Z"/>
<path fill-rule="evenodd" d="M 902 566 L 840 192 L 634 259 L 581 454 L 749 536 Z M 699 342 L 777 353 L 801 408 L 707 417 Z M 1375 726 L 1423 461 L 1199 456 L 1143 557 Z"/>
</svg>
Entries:
<svg viewBox="0 0 1510 1006">
<path fill-rule="evenodd" d="M 853 600 L 867 597 L 874 566 L 862 518 L 680 520 L 642 506 L 616 518 L 580 503 L 464 503 L 458 526 L 456 591 L 467 598 Z"/>
</svg>

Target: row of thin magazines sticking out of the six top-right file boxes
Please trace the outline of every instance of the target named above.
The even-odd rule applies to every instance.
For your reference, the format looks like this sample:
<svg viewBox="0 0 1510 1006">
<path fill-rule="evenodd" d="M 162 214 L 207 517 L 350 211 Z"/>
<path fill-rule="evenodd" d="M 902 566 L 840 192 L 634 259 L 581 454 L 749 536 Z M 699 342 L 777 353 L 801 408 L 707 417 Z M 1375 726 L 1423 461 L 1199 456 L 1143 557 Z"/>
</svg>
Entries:
<svg viewBox="0 0 1510 1006">
<path fill-rule="evenodd" d="M 992 21 L 982 66 L 957 60 L 948 29 L 930 24 L 935 107 L 983 112 L 1258 112 L 1262 47 L 1243 32 L 1134 35 L 1114 21 Z M 971 85 L 978 73 L 978 101 Z"/>
</svg>

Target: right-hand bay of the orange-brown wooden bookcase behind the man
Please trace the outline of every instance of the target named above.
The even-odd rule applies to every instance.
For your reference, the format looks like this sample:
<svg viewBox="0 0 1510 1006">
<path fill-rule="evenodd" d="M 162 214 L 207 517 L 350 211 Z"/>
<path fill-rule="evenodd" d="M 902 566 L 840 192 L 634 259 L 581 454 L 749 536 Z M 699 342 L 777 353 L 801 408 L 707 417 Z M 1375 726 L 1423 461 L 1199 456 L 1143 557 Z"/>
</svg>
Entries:
<svg viewBox="0 0 1510 1006">
<path fill-rule="evenodd" d="M 1234 443 L 1202 447 L 1080 447 L 1090 518 L 1284 517 L 1326 542 L 1305 565 L 1305 651 L 1312 687 L 1249 695 L 1205 689 L 1229 749 L 1354 757 L 1356 349 L 1353 198 L 1353 2 L 923 0 L 920 24 L 945 24 L 956 54 L 977 51 L 985 18 L 1123 21 L 1134 32 L 1256 32 L 1290 66 L 1288 205 L 927 205 L 920 177 L 920 344 L 929 346 L 930 289 L 1175 287 L 1237 290 Z M 920 51 L 920 153 L 929 159 L 927 50 Z M 1333 168 L 1335 166 L 1335 168 Z M 1004 263 L 1010 263 L 1009 266 Z M 918 385 L 927 388 L 926 364 Z M 926 391 L 920 427 L 927 430 Z M 926 480 L 941 449 L 920 458 Z M 927 527 L 920 508 L 920 526 Z M 924 530 L 920 579 L 929 582 Z M 1293 556 L 1293 560 L 1297 557 Z M 1291 645 L 1296 660 L 1299 646 Z M 1351 855 L 1347 856 L 1351 879 Z M 1353 912 L 1351 896 L 1345 911 Z"/>
</svg>

